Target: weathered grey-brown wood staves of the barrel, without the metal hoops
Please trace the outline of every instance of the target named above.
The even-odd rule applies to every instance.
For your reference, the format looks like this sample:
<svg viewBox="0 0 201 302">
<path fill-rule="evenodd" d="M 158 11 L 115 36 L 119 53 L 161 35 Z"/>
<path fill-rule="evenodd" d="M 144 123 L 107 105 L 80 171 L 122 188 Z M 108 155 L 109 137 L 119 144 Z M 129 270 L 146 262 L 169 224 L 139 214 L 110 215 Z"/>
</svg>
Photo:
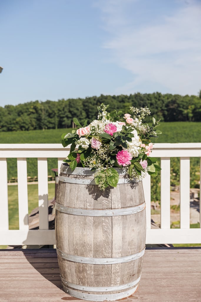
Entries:
<svg viewBox="0 0 201 302">
<path fill-rule="evenodd" d="M 108 187 L 105 191 L 100 191 L 97 185 L 72 183 L 72 178 L 82 180 L 92 178 L 93 176 L 89 176 L 87 171 L 85 171 L 86 175 L 85 172 L 76 175 L 75 171 L 73 173 L 70 171 L 68 174 L 66 168 L 61 171 L 60 175 L 71 178 L 71 183 L 59 181 L 58 204 L 76 209 L 104 209 L 107 212 L 107 210 L 135 207 L 144 203 L 142 183 L 118 184 L 116 188 Z M 120 176 L 124 177 L 124 175 Z M 80 257 L 111 258 L 133 255 L 144 249 L 144 210 L 136 214 L 112 217 L 89 217 L 58 212 L 56 214 L 57 247 L 65 253 Z M 119 286 L 138 279 L 142 259 L 110 265 L 91 265 L 76 260 L 68 261 L 58 256 L 61 276 L 65 280 L 91 287 Z M 107 294 L 122 291 L 125 289 L 108 291 Z M 97 294 L 92 291 L 90 293 Z"/>
</svg>

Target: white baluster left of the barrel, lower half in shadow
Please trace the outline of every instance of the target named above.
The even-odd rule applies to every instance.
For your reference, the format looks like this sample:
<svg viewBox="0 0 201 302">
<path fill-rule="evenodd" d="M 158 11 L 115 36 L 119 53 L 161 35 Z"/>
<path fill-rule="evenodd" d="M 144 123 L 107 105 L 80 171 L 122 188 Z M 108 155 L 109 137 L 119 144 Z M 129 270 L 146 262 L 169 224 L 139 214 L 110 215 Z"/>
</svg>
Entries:
<svg viewBox="0 0 201 302">
<path fill-rule="evenodd" d="M 48 166 L 46 158 L 38 158 L 39 229 L 48 230 Z"/>
</svg>

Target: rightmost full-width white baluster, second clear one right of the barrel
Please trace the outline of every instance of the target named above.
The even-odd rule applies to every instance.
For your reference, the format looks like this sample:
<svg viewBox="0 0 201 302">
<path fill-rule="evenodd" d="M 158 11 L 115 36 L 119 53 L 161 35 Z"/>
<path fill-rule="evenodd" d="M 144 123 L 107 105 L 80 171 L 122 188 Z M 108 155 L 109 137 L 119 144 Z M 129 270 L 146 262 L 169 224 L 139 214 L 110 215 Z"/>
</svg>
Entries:
<svg viewBox="0 0 201 302">
<path fill-rule="evenodd" d="M 190 158 L 180 159 L 180 228 L 190 228 Z"/>
</svg>

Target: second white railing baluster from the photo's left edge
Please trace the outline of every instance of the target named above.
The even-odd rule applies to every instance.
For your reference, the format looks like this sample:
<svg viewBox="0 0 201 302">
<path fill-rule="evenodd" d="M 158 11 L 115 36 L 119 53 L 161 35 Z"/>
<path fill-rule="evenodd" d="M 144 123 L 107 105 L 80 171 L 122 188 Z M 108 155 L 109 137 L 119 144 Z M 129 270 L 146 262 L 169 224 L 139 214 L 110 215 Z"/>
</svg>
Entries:
<svg viewBox="0 0 201 302">
<path fill-rule="evenodd" d="M 27 190 L 27 159 L 17 159 L 17 184 L 18 184 L 18 206 L 19 206 L 19 228 L 29 229 L 28 221 L 28 190 Z"/>
</svg>

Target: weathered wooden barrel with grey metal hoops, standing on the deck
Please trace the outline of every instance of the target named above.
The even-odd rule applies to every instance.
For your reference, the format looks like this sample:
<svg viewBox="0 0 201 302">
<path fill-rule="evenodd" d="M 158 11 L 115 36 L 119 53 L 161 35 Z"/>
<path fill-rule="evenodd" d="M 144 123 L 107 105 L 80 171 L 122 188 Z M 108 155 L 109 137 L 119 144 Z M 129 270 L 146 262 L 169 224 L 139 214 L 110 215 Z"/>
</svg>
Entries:
<svg viewBox="0 0 201 302">
<path fill-rule="evenodd" d="M 88 168 L 61 165 L 55 232 L 64 291 L 90 301 L 137 291 L 145 251 L 142 182 L 116 169 L 116 188 L 101 191 Z"/>
</svg>

